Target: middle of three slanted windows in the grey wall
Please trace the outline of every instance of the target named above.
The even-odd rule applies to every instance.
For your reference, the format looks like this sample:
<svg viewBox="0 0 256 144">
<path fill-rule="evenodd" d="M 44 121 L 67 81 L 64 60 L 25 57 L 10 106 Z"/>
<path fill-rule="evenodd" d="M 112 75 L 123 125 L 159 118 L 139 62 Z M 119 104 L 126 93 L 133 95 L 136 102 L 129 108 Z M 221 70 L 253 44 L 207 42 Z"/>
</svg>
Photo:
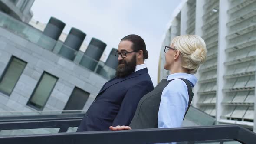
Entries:
<svg viewBox="0 0 256 144">
<path fill-rule="evenodd" d="M 34 92 L 32 93 L 27 105 L 38 110 L 43 110 L 57 80 L 57 77 L 47 72 L 43 72 L 43 75 L 37 83 L 36 88 L 34 89 Z"/>
</svg>

